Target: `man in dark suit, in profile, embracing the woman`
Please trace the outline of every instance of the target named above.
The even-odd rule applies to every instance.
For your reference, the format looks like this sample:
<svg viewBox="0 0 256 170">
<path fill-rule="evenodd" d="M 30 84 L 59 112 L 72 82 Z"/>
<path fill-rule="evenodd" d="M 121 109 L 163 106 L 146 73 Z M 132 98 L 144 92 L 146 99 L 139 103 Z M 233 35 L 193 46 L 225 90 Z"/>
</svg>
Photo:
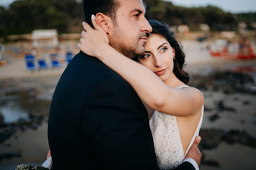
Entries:
<svg viewBox="0 0 256 170">
<path fill-rule="evenodd" d="M 84 1 L 85 21 L 90 24 L 91 14 L 113 48 L 129 58 L 143 53 L 143 37 L 152 27 L 144 17 L 142 0 Z M 57 84 L 48 139 L 55 170 L 158 169 L 148 114 L 137 93 L 83 52 L 69 62 Z M 198 168 L 198 144 L 188 152 L 192 159 L 176 169 Z"/>
</svg>

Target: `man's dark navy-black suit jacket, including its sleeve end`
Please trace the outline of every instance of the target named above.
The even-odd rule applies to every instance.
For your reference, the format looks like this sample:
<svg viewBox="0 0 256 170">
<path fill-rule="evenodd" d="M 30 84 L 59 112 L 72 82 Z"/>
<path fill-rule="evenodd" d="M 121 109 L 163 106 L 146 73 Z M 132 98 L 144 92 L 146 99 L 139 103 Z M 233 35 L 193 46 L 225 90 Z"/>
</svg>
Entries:
<svg viewBox="0 0 256 170">
<path fill-rule="evenodd" d="M 53 95 L 53 168 L 158 169 L 148 114 L 137 93 L 97 58 L 77 54 Z M 183 163 L 177 169 L 194 169 Z"/>
</svg>

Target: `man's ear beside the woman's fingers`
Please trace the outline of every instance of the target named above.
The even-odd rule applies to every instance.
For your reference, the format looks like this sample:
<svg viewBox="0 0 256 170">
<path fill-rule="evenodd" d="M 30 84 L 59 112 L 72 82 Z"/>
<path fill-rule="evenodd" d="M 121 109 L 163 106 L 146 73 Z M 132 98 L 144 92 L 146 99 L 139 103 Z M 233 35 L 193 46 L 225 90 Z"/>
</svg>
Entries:
<svg viewBox="0 0 256 170">
<path fill-rule="evenodd" d="M 103 13 L 97 13 L 95 16 L 96 23 L 107 33 L 110 33 L 112 20 Z"/>
</svg>

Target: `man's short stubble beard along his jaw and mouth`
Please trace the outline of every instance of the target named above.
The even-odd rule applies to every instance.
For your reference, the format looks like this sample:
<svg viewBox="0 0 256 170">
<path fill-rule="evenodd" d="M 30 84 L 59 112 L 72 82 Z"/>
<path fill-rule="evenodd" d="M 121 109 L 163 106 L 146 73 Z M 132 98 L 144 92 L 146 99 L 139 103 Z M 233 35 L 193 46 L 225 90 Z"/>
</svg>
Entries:
<svg viewBox="0 0 256 170">
<path fill-rule="evenodd" d="M 114 27 L 114 33 L 114 36 L 109 38 L 109 43 L 119 53 L 128 58 L 134 58 L 144 53 L 146 42 L 142 42 L 140 45 L 138 41 L 139 38 L 145 37 L 146 33 L 140 33 L 137 38 L 128 39 L 129 37 L 125 36 L 125 32 L 118 26 L 118 23 Z"/>
</svg>

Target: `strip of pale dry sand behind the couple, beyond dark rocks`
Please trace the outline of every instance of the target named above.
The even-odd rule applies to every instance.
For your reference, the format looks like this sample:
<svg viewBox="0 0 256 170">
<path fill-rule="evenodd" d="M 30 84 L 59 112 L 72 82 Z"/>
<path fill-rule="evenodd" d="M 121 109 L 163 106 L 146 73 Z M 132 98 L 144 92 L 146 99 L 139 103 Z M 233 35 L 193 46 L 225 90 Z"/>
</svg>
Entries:
<svg viewBox="0 0 256 170">
<path fill-rule="evenodd" d="M 210 56 L 210 53 L 206 49 L 208 42 L 197 42 L 197 41 L 182 41 L 181 42 L 186 54 L 186 62 L 188 64 L 187 68 L 196 68 L 197 66 L 220 66 L 220 65 L 230 65 L 230 64 L 251 64 L 256 62 L 256 60 L 228 60 L 223 58 L 214 58 Z M 71 44 L 71 42 L 69 42 Z M 74 52 L 79 52 L 77 48 L 78 42 L 72 41 L 72 46 L 76 47 Z M 11 45 L 7 45 L 11 46 Z M 64 46 L 64 45 L 63 45 Z M 74 53 L 75 54 L 75 53 Z M 33 78 L 33 77 L 44 77 L 44 76 L 60 76 L 63 73 L 65 66 L 59 69 L 48 69 L 31 72 L 26 70 L 24 58 L 15 58 L 3 55 L 3 59 L 7 61 L 6 66 L 0 66 L 0 79 L 6 78 Z M 49 56 L 46 57 L 46 62 L 50 63 Z"/>
</svg>

